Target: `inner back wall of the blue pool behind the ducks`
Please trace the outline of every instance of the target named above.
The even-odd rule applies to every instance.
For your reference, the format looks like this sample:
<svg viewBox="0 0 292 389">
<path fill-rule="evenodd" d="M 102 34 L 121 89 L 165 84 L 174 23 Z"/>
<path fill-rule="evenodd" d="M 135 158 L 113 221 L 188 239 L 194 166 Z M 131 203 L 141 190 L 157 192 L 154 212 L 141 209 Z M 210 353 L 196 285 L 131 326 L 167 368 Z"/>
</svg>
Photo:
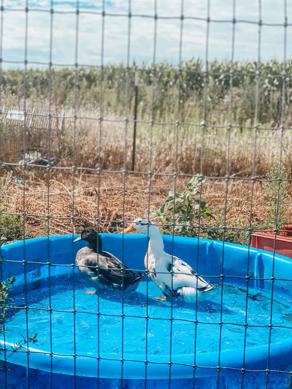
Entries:
<svg viewBox="0 0 292 389">
<path fill-rule="evenodd" d="M 19 276 L 18 283 L 24 282 L 24 266 L 26 273 L 33 272 L 34 278 L 43 278 L 47 273 L 47 267 L 35 262 L 50 262 L 55 265 L 68 265 L 74 263 L 77 251 L 86 245 L 86 242 L 79 241 L 72 244 L 78 235 L 61 235 L 49 238 L 28 239 L 21 242 L 4 245 L 1 248 L 3 259 L 11 261 L 31 261 L 23 265 L 19 262 L 3 262 L 3 279 L 12 276 Z M 148 247 L 147 235 L 127 235 L 122 238 L 121 234 L 100 234 L 102 246 L 105 251 L 112 252 L 117 258 L 125 259 L 125 265 L 132 269 L 145 270 L 144 256 Z M 172 237 L 163 235 L 165 251 L 172 254 Z M 199 246 L 198 246 L 199 242 Z M 270 279 L 273 276 L 277 279 L 289 279 L 291 274 L 292 259 L 273 253 L 255 249 L 253 247 L 224 243 L 208 239 L 174 237 L 173 255 L 187 261 L 200 274 L 205 276 L 215 276 L 222 273 L 228 280 L 228 276 L 246 277 L 247 266 L 249 263 L 248 275 L 257 280 L 249 280 L 249 286 L 259 287 L 266 291 L 271 291 L 272 283 Z M 199 258 L 197 266 L 197 258 Z M 42 268 L 44 266 L 44 268 Z M 62 266 L 63 267 L 63 266 Z M 67 272 L 68 269 L 57 269 L 57 266 L 51 267 L 51 275 L 54 272 Z M 40 274 L 41 273 L 41 274 Z M 33 278 L 33 279 L 34 279 Z M 230 281 L 232 282 L 232 278 Z M 211 280 L 211 279 L 210 279 Z M 214 279 L 214 281 L 220 280 Z M 239 280 L 246 285 L 246 280 Z M 290 282 L 277 280 L 274 283 L 274 292 L 280 293 L 290 289 Z"/>
</svg>

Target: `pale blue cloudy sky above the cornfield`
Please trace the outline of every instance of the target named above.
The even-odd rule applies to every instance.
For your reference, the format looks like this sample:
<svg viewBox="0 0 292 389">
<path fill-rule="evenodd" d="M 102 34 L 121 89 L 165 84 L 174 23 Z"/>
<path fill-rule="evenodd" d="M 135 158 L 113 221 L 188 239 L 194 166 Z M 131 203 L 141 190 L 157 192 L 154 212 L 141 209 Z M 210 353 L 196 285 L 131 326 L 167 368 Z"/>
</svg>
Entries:
<svg viewBox="0 0 292 389">
<path fill-rule="evenodd" d="M 237 21 L 259 21 L 259 2 L 234 0 Z M 292 0 L 287 1 L 288 23 L 292 23 Z M 154 54 L 155 2 L 154 0 L 130 0 L 132 14 L 148 15 L 151 18 L 133 16 L 130 19 L 130 63 L 145 61 L 151 64 Z M 260 58 L 283 60 L 284 56 L 284 0 L 262 0 L 262 22 L 281 24 L 262 26 Z M 53 1 L 52 62 L 72 66 L 76 62 L 76 1 Z M 4 0 L 3 47 L 4 61 L 25 60 L 25 0 Z M 207 0 L 184 0 L 183 15 L 206 19 Z M 50 58 L 50 0 L 28 0 L 27 60 L 49 62 Z M 80 65 L 100 66 L 102 63 L 102 0 L 79 1 L 77 62 Z M 129 0 L 106 0 L 104 18 L 103 63 L 127 62 Z M 118 14 L 120 16 L 110 16 Z M 157 0 L 157 45 L 156 62 L 179 63 L 180 0 Z M 230 60 L 232 55 L 233 1 L 210 0 L 208 58 Z M 215 19 L 217 22 L 212 21 Z M 181 59 L 206 58 L 206 20 L 183 20 Z M 259 25 L 238 22 L 235 25 L 234 60 L 257 60 Z M 292 58 L 292 24 L 287 27 L 287 59 Z M 42 66 L 29 64 L 32 67 Z M 21 68 L 21 64 L 3 63 L 3 68 Z"/>
</svg>

